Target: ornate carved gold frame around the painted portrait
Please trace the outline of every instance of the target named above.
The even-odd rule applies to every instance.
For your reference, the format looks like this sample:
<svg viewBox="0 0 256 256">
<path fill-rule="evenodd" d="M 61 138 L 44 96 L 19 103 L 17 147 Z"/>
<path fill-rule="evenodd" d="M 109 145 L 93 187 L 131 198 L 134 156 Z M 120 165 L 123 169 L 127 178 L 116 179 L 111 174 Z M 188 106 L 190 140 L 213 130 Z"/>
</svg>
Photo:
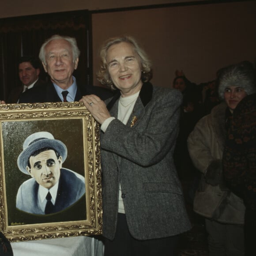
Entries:
<svg viewBox="0 0 256 256">
<path fill-rule="evenodd" d="M 7 147 L 4 147 L 5 144 L 3 139 L 6 138 L 6 136 L 3 136 L 3 127 L 6 127 L 6 125 L 11 127 L 20 125 L 20 122 L 30 124 L 31 121 L 32 124 L 39 123 L 45 126 L 55 122 L 61 123 L 62 121 L 68 122 L 68 124 L 71 124 L 70 126 L 72 126 L 72 122 L 75 121 L 82 124 L 86 203 L 83 202 L 85 204 L 85 209 L 81 209 L 81 211 L 82 214 L 84 213 L 85 215 L 84 219 L 80 218 L 79 220 L 74 220 L 78 212 L 74 211 L 70 215 L 72 220 L 68 219 L 63 221 L 61 219 L 62 217 L 60 217 L 60 221 L 58 221 L 59 215 L 57 215 L 57 221 L 54 220 L 53 222 L 51 220 L 50 222 L 44 222 L 44 218 L 46 218 L 44 215 L 31 215 L 29 217 L 33 219 L 36 217 L 36 220 L 38 221 L 28 223 L 26 221 L 20 221 L 19 218 L 22 218 L 21 216 L 24 213 L 20 213 L 19 210 L 15 208 L 16 212 L 14 207 L 12 207 L 13 200 L 15 199 L 12 199 L 8 191 L 12 191 L 10 187 L 13 188 L 15 177 L 16 175 L 21 175 L 19 174 L 21 172 L 19 171 L 17 164 L 15 170 L 12 170 L 13 167 L 11 170 L 7 167 L 8 161 L 5 162 L 5 159 L 9 159 L 12 152 L 9 152 L 9 150 L 7 152 Z M 72 129 L 73 127 L 70 127 L 70 130 Z M 15 131 L 15 129 L 13 130 Z M 61 131 L 61 128 L 59 130 Z M 12 134 L 8 134 L 8 140 L 11 140 L 11 137 Z M 16 138 L 18 137 L 19 136 L 16 135 Z M 70 138 L 70 140 L 73 140 L 72 138 Z M 4 233 L 9 241 L 75 237 L 80 235 L 98 235 L 102 233 L 101 161 L 99 144 L 99 125 L 93 119 L 83 103 L 56 102 L 0 105 L 0 231 Z M 15 150 L 18 145 L 13 145 L 13 147 Z M 74 145 L 74 148 L 75 147 L 76 145 Z M 82 152 L 75 153 L 76 155 L 78 153 L 82 154 Z M 16 159 L 14 161 L 16 161 Z M 14 181 L 10 182 L 8 180 L 10 174 L 6 173 L 7 170 L 8 172 L 13 172 L 11 177 L 13 177 Z M 17 218 L 19 221 L 10 223 L 10 216 L 12 220 L 13 218 Z M 49 220 L 49 218 L 46 218 L 46 220 Z"/>
</svg>

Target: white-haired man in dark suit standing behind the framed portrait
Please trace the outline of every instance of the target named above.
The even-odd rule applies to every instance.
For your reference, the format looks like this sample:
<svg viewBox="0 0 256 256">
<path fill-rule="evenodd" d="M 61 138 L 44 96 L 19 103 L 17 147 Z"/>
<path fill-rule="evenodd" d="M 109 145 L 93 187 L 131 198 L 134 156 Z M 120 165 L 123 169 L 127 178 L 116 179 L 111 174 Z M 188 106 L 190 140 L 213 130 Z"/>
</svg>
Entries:
<svg viewBox="0 0 256 256">
<path fill-rule="evenodd" d="M 26 91 L 19 102 L 74 102 L 87 94 L 96 94 L 102 100 L 112 96 L 105 88 L 81 86 L 76 81 L 72 74 L 78 66 L 79 54 L 75 38 L 53 35 L 47 39 L 41 46 L 39 58 L 51 82 Z"/>
</svg>

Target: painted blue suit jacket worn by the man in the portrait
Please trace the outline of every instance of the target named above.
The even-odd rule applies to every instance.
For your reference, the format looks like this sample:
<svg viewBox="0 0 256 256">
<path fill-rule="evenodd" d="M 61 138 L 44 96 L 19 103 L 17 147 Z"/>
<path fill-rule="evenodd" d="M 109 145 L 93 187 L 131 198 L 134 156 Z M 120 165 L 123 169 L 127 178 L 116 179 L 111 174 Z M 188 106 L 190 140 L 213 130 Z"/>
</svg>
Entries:
<svg viewBox="0 0 256 256">
<path fill-rule="evenodd" d="M 62 211 L 78 201 L 85 193 L 85 181 L 83 176 L 71 170 L 60 169 L 60 180 L 53 213 Z M 16 207 L 21 211 L 32 214 L 45 214 L 38 204 L 39 184 L 31 178 L 19 187 Z"/>
</svg>

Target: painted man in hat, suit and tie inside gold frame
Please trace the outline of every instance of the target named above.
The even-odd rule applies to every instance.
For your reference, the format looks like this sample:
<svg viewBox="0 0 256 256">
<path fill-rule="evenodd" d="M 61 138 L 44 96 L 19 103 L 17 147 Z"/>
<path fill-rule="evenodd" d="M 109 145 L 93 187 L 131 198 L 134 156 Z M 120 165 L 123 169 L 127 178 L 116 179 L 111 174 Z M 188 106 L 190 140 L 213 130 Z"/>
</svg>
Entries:
<svg viewBox="0 0 256 256">
<path fill-rule="evenodd" d="M 26 138 L 17 164 L 31 178 L 19 187 L 16 207 L 32 214 L 51 214 L 72 206 L 85 193 L 85 179 L 62 168 L 67 147 L 49 132 Z"/>
</svg>

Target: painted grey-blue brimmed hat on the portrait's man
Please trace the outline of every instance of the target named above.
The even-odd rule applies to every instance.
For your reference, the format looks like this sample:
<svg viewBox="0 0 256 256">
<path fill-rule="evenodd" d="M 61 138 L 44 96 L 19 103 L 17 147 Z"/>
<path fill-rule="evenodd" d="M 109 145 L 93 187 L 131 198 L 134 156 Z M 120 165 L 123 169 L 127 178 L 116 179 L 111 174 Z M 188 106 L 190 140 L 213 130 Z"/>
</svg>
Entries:
<svg viewBox="0 0 256 256">
<path fill-rule="evenodd" d="M 26 170 L 28 159 L 35 152 L 43 148 L 53 148 L 62 157 L 62 162 L 67 158 L 68 150 L 63 142 L 54 139 L 49 132 L 36 132 L 28 136 L 23 143 L 23 151 L 19 154 L 17 164 L 19 169 L 29 174 Z"/>
</svg>

